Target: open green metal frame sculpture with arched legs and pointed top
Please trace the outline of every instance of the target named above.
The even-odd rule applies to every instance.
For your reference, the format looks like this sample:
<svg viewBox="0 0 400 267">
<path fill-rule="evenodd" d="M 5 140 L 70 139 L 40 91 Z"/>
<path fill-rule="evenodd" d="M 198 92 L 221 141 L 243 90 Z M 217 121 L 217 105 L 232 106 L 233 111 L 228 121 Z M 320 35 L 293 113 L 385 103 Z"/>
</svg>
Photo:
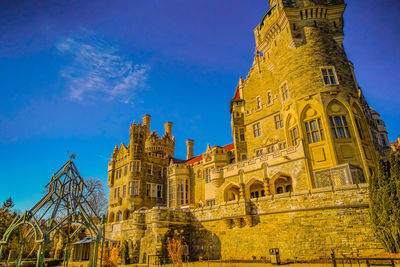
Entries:
<svg viewBox="0 0 400 267">
<path fill-rule="evenodd" d="M 34 238 L 39 245 L 37 251 L 36 267 L 43 267 L 46 245 L 53 242 L 59 233 L 67 237 L 63 266 L 68 266 L 71 251 L 71 239 L 81 230 L 90 233 L 95 242 L 92 266 L 97 266 L 99 245 L 101 246 L 99 266 L 101 266 L 104 234 L 104 217 L 101 219 L 90 206 L 87 195 L 87 186 L 80 176 L 72 155 L 56 173 L 51 177 L 51 181 L 46 185 L 46 195 L 32 209 L 25 211 L 21 216 L 16 216 L 0 240 L 0 259 L 2 257 L 3 246 L 10 240 L 11 235 L 18 231 L 20 237 L 20 251 L 16 265 L 22 260 L 24 244 Z M 88 211 L 91 212 L 89 215 Z M 100 222 L 96 225 L 93 219 Z M 73 233 L 65 233 L 65 227 L 77 226 Z M 27 231 L 21 231 L 22 227 L 27 227 Z"/>
</svg>

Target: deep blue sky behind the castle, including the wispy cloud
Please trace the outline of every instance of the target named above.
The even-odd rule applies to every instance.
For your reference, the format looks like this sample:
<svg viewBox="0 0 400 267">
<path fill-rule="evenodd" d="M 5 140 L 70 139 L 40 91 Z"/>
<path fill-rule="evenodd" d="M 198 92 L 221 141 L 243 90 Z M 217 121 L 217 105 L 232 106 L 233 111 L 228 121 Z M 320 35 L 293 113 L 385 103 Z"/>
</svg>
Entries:
<svg viewBox="0 0 400 267">
<path fill-rule="evenodd" d="M 369 104 L 400 134 L 400 2 L 347 1 L 344 46 Z M 106 181 L 115 144 L 151 114 L 176 157 L 232 142 L 229 100 L 254 55 L 266 0 L 0 2 L 0 201 L 30 208 L 76 153 Z"/>
</svg>

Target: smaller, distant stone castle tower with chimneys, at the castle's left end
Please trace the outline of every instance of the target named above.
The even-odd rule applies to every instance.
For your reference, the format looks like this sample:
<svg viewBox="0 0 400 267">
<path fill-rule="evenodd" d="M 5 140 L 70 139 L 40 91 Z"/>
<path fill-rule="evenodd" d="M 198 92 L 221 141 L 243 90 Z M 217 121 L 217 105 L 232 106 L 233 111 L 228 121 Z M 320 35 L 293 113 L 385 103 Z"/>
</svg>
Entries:
<svg viewBox="0 0 400 267">
<path fill-rule="evenodd" d="M 108 164 L 110 198 L 108 221 L 129 219 L 133 211 L 166 205 L 166 180 L 169 160 L 174 155 L 172 123 L 165 124 L 159 137 L 150 131 L 150 115 L 143 124 L 132 123 L 129 144 L 116 146 Z"/>
</svg>

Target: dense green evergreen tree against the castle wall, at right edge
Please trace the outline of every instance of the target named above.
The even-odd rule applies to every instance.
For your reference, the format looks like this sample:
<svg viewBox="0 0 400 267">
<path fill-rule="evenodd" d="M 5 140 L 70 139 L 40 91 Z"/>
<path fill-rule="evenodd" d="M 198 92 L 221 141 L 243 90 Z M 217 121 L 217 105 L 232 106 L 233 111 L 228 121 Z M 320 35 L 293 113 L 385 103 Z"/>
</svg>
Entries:
<svg viewBox="0 0 400 267">
<path fill-rule="evenodd" d="M 388 252 L 400 252 L 400 155 L 379 160 L 370 181 L 370 219 L 377 239 Z"/>
</svg>

